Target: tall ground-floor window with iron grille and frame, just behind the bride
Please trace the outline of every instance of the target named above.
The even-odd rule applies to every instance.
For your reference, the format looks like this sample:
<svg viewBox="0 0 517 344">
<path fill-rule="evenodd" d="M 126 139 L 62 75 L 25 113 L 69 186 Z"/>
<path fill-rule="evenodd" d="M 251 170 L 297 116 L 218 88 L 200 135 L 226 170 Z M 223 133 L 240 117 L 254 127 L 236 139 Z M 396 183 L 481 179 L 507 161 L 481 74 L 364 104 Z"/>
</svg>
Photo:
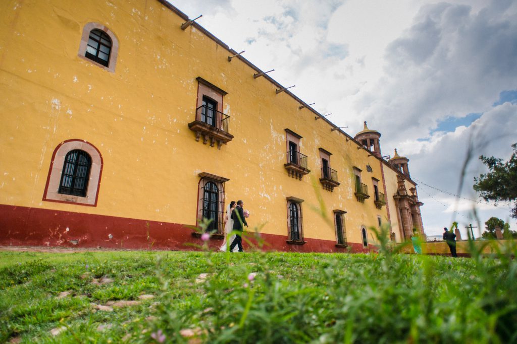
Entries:
<svg viewBox="0 0 517 344">
<path fill-rule="evenodd" d="M 224 182 L 230 179 L 202 172 L 199 183 L 198 221 L 210 220 L 207 232 L 224 234 Z M 213 236 L 213 235 L 212 235 Z"/>
</svg>

